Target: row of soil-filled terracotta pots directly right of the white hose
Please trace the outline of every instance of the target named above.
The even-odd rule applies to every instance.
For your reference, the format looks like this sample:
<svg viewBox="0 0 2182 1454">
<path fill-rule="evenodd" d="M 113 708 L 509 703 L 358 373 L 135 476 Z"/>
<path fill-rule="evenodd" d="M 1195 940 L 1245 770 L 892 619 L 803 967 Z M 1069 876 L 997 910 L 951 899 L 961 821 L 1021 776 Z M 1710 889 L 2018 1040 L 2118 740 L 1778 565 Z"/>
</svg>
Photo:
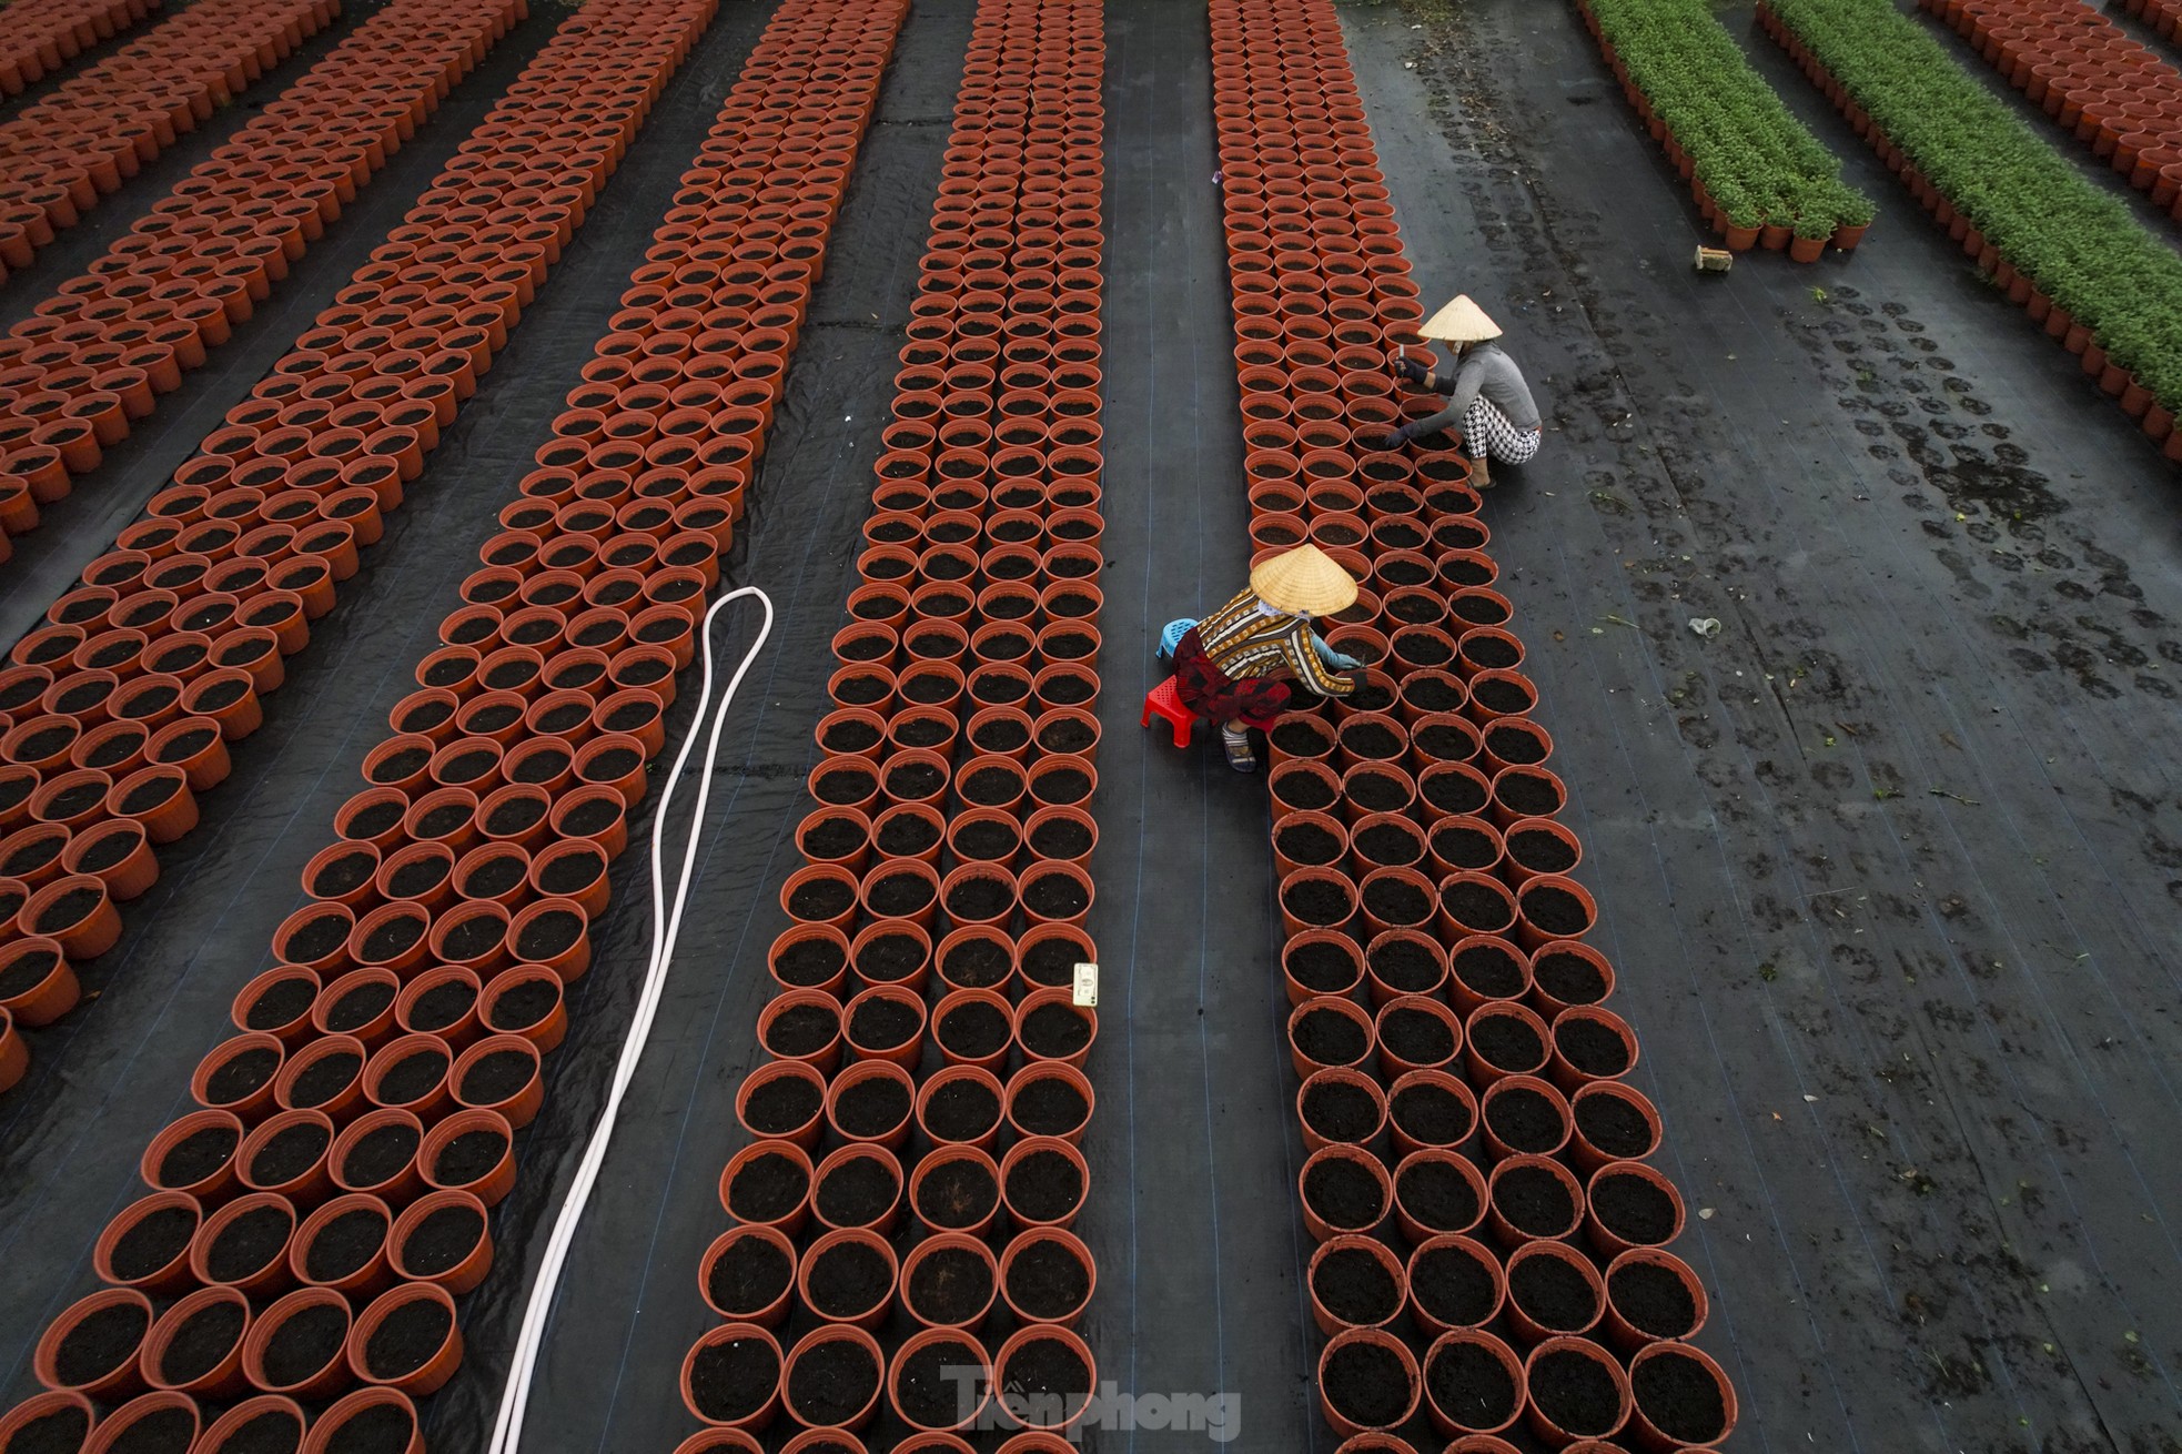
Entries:
<svg viewBox="0 0 2182 1454">
<path fill-rule="evenodd" d="M 775 1059 L 738 1094 L 757 1140 L 720 1177 L 738 1225 L 698 1273 L 727 1323 L 683 1364 L 709 1426 L 685 1454 L 755 1447 L 775 1417 L 807 1430 L 788 1447 L 862 1450 L 834 1430 L 882 1408 L 912 1430 L 886 1447 L 969 1447 L 951 1430 L 984 1417 L 1069 1426 L 1095 1382 L 1069 1332 L 1095 1266 L 1067 1227 L 1098 1015 L 1067 985 L 1095 956 L 1102 41 L 1089 9 L 1008 24 L 1036 9 L 982 4 L 971 39 L 805 865 L 781 889 L 794 926 L 768 956 Z M 1067 57 L 1082 74 L 1034 72 Z M 986 168 L 988 140 L 1063 116 L 1080 131 L 1036 175 Z M 836 1264 L 868 1264 L 855 1297 Z M 1002 1306 L 1012 1332 L 988 1327 Z M 770 1332 L 790 1316 L 820 1323 Z M 1026 1439 L 1008 1447 L 1043 1447 Z"/>
</svg>

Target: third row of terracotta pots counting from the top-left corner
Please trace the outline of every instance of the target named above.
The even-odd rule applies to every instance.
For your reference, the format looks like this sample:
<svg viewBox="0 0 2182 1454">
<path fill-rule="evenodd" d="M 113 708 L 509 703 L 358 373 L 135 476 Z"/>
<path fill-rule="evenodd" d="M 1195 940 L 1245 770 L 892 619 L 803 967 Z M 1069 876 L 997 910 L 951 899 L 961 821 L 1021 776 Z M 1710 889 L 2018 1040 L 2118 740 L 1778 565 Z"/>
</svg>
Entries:
<svg viewBox="0 0 2182 1454">
<path fill-rule="evenodd" d="M 137 218 L 0 341 L 15 400 L 0 509 L 59 500 L 271 297 L 439 100 L 515 24 L 515 0 L 397 0 Z M 13 524 L 9 528 L 13 528 Z"/>
</svg>

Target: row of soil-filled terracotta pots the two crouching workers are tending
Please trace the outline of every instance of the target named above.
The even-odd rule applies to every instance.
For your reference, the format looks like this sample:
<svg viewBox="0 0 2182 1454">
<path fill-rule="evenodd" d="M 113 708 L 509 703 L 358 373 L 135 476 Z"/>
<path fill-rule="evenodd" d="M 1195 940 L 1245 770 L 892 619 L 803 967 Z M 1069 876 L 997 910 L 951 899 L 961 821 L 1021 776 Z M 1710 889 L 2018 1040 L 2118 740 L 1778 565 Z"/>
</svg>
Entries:
<svg viewBox="0 0 2182 1454">
<path fill-rule="evenodd" d="M 1298 46 L 1316 50 L 1307 72 L 1283 61 Z M 1682 1203 L 1641 1159 L 1575 1135 L 1575 1100 L 1593 1133 L 1628 1155 L 1656 1148 L 1658 1122 L 1641 1094 L 1617 1085 L 1636 1039 L 1597 1006 L 1612 974 L 1580 943 L 1597 910 L 1564 878 L 1582 849 L 1554 823 L 1564 790 L 1545 766 L 1551 738 L 1527 716 L 1538 694 L 1516 670 L 1521 642 L 1503 629 L 1512 611 L 1490 589 L 1497 570 L 1460 461 L 1372 452 L 1386 419 L 1427 408 L 1394 397 L 1386 373 L 1392 354 L 1420 347 L 1420 308 L 1399 229 L 1372 192 L 1383 177 L 1333 9 L 1215 0 L 1213 50 L 1215 103 L 1233 107 L 1222 175 L 1242 175 L 1226 186 L 1226 221 L 1244 426 L 1259 430 L 1252 539 L 1261 552 L 1316 539 L 1366 592 L 1327 633 L 1370 664 L 1362 699 L 1292 712 L 1268 734 L 1290 1054 L 1314 1146 L 1298 1192 L 1305 1225 L 1324 1242 L 1309 1277 L 1333 1334 L 1318 1362 L 1320 1404 L 1344 1437 L 1383 1437 L 1359 1447 L 1410 1447 L 1394 1430 L 1427 1384 L 1442 1437 L 1490 1437 L 1527 1417 L 1551 1445 L 1606 1439 L 1632 1419 L 1632 1384 L 1608 1347 L 1575 1336 L 1599 1325 L 1608 1299 L 1604 1273 L 1573 1242 L 1586 1238 L 1602 1266 L 1639 1247 L 1652 1255 L 1680 1231 Z M 1338 118 L 1333 135 L 1268 138 L 1239 124 L 1266 96 Z M 1311 186 L 1364 188 L 1364 205 L 1318 205 Z M 1427 461 L 1434 474 L 1420 478 Z M 1303 509 L 1274 509 L 1290 502 Z M 1521 856 L 1508 851 L 1514 836 Z M 1554 1000 L 1551 1020 L 1525 1004 L 1549 996 L 1540 963 L 1551 965 L 1551 989 L 1580 1000 Z M 1366 987 L 1368 1009 L 1351 998 Z M 1473 1282 L 1503 1297 L 1462 1312 L 1434 1306 L 1440 1292 L 1416 1303 L 1407 1264 L 1379 1240 L 1390 1223 L 1434 1258 L 1475 1247 Z M 1506 1297 L 1499 1258 L 1468 1238 L 1484 1225 L 1523 1268 L 1516 1299 Z M 1689 1295 L 1687 1268 L 1656 1255 L 1661 1275 Z M 1595 1290 L 1588 1319 L 1532 1301 L 1527 1284 L 1556 1277 L 1560 1290 Z M 1532 1356 L 1516 1358 L 1486 1325 L 1536 1345 Z M 1623 1327 L 1630 1347 L 1695 1360 L 1733 1408 L 1717 1364 L 1671 1343 L 1695 1321 Z M 1584 1384 L 1606 1386 L 1610 1417 L 1575 1397 Z M 1392 1397 L 1399 1389 L 1407 1399 Z M 1682 1443 L 1698 1441 L 1665 1447 Z"/>
</svg>

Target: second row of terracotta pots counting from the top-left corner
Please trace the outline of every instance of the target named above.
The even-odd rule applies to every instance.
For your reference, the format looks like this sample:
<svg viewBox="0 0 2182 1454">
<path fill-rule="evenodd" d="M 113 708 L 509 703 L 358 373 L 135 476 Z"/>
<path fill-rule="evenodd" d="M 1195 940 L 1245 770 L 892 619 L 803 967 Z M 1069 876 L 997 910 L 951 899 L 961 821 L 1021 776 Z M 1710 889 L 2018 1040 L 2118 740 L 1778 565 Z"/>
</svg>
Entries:
<svg viewBox="0 0 2182 1454">
<path fill-rule="evenodd" d="M 100 196 L 216 107 L 231 105 L 338 13 L 336 0 L 192 7 L 11 116 L 0 127 L 0 153 L 9 157 L 0 179 L 0 266 L 31 266 L 41 240 L 74 227 Z"/>
</svg>

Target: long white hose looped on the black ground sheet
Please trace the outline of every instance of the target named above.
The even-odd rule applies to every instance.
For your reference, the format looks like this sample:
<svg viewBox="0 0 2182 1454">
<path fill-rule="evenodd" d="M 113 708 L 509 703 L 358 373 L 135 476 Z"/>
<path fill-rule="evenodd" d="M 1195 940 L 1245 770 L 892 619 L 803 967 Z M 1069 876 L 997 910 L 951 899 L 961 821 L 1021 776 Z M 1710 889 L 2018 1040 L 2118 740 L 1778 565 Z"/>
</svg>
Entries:
<svg viewBox="0 0 2182 1454">
<path fill-rule="evenodd" d="M 705 830 L 705 803 L 711 799 L 711 768 L 714 760 L 720 755 L 720 731 L 727 727 L 727 710 L 735 701 L 735 688 L 742 686 L 742 677 L 757 662 L 757 651 L 766 644 L 772 633 L 772 598 L 755 585 L 744 585 L 720 596 L 709 611 L 705 611 L 705 622 L 698 629 L 698 646 L 705 657 L 705 686 L 696 699 L 696 723 L 705 720 L 705 707 L 711 701 L 711 620 L 731 600 L 742 596 L 755 596 L 766 607 L 766 620 L 757 629 L 757 640 L 751 642 L 751 651 L 744 653 L 742 666 L 727 683 L 727 692 L 720 696 L 720 707 L 711 718 L 711 736 L 705 742 L 705 771 L 698 777 L 696 790 L 696 812 L 690 814 L 690 838 L 683 845 L 681 880 L 674 886 L 674 913 L 666 913 L 666 875 L 659 865 L 661 838 L 668 825 L 668 806 L 674 801 L 674 786 L 681 782 L 683 764 L 690 762 L 690 749 L 696 747 L 696 729 L 683 738 L 681 751 L 674 755 L 674 766 L 668 771 L 666 786 L 659 790 L 659 810 L 652 817 L 652 958 L 644 969 L 644 993 L 637 998 L 637 1013 L 628 1026 L 628 1039 L 622 1041 L 622 1059 L 613 1068 L 613 1089 L 607 1094 L 607 1107 L 598 1118 L 598 1127 L 591 1131 L 591 1142 L 583 1151 L 583 1161 L 576 1166 L 576 1181 L 567 1190 L 567 1201 L 561 1203 L 561 1216 L 554 1218 L 552 1238 L 546 1242 L 546 1260 L 539 1264 L 537 1282 L 530 1286 L 530 1303 L 524 1308 L 521 1336 L 515 1340 L 515 1362 L 508 1367 L 508 1386 L 500 1395 L 500 1421 L 493 1426 L 491 1454 L 515 1454 L 521 1443 L 524 1430 L 524 1408 L 530 1402 L 530 1375 L 537 1371 L 539 1349 L 546 1340 L 546 1319 L 552 1312 L 554 1290 L 561 1284 L 561 1266 L 567 1262 L 567 1249 L 576 1240 L 576 1225 L 583 1223 L 583 1209 L 591 1201 L 591 1188 L 598 1183 L 598 1170 L 607 1161 L 607 1144 L 613 1140 L 613 1120 L 622 1109 L 622 1094 L 628 1083 L 635 1081 L 637 1061 L 644 1059 L 644 1044 L 652 1033 L 652 1015 L 659 1011 L 659 993 L 666 989 L 668 965 L 674 961 L 674 941 L 681 937 L 683 904 L 690 899 L 690 878 L 696 867 L 698 838 Z"/>
</svg>

